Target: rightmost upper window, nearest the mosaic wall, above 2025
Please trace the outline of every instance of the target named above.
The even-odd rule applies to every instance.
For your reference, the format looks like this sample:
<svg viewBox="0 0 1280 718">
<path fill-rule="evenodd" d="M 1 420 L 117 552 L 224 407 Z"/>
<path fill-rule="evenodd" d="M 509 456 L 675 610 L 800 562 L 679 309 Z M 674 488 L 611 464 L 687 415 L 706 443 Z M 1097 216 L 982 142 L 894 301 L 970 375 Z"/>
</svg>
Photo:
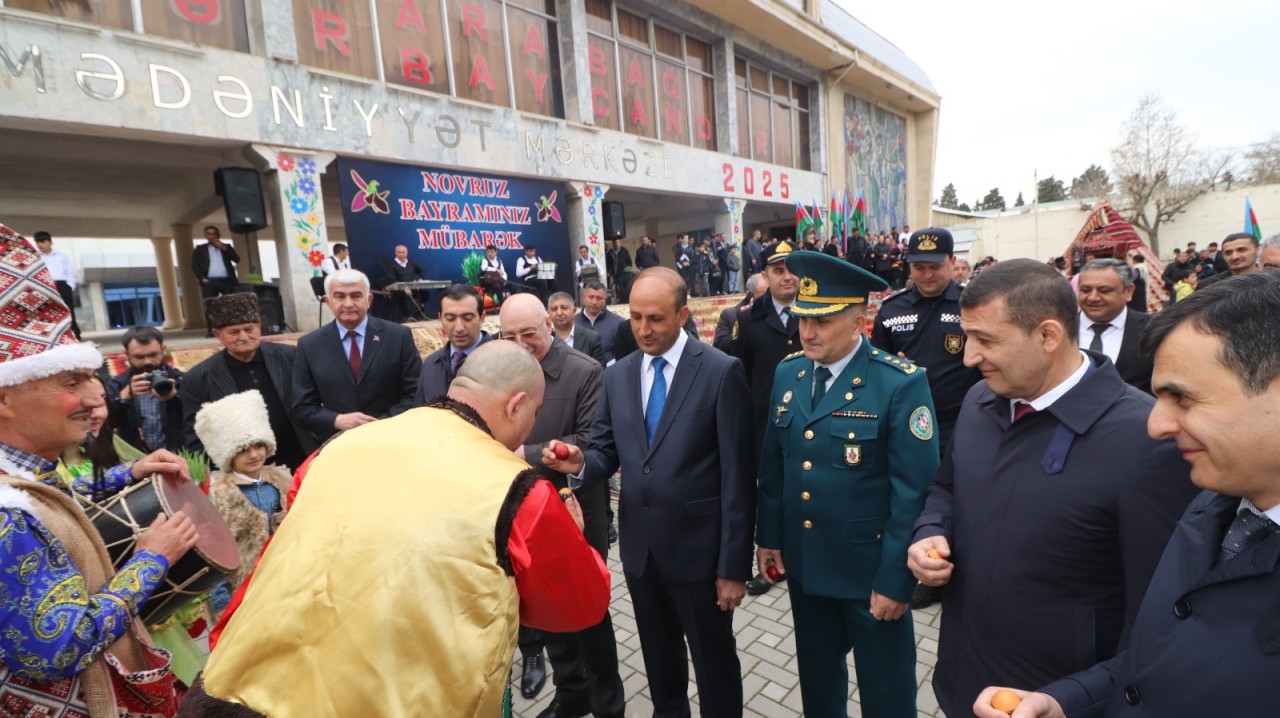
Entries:
<svg viewBox="0 0 1280 718">
<path fill-rule="evenodd" d="M 809 169 L 809 87 L 735 58 L 733 92 L 739 155 Z"/>
</svg>

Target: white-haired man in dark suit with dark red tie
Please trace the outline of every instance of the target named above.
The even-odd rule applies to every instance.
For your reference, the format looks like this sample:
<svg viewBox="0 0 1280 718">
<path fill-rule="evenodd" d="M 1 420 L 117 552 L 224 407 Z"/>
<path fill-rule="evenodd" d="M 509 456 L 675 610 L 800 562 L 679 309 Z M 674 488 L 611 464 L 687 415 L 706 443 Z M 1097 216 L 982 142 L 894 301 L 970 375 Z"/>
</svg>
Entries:
<svg viewBox="0 0 1280 718">
<path fill-rule="evenodd" d="M 324 279 L 334 320 L 298 339 L 293 422 L 321 443 L 338 431 L 413 406 L 422 358 L 408 328 L 369 316 L 369 278 L 344 269 Z"/>
</svg>

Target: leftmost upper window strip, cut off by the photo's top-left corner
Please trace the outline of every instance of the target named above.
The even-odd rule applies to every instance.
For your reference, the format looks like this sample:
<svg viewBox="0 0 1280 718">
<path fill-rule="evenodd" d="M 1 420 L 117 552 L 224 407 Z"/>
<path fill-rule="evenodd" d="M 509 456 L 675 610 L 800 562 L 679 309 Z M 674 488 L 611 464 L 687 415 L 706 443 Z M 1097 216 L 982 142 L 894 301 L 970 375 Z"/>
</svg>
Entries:
<svg viewBox="0 0 1280 718">
<path fill-rule="evenodd" d="M 244 0 L 0 0 L 0 8 L 27 10 L 198 45 L 248 52 Z"/>
</svg>

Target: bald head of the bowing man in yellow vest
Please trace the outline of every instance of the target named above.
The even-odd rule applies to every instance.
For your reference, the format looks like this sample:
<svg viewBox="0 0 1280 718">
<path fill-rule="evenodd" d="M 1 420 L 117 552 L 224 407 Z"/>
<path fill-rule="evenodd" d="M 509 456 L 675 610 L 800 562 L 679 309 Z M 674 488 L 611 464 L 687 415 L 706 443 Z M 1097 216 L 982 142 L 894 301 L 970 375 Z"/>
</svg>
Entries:
<svg viewBox="0 0 1280 718">
<path fill-rule="evenodd" d="M 476 410 L 493 438 L 516 451 L 534 430 L 543 388 L 543 369 L 527 351 L 515 342 L 485 342 L 462 363 L 449 398 Z"/>
</svg>

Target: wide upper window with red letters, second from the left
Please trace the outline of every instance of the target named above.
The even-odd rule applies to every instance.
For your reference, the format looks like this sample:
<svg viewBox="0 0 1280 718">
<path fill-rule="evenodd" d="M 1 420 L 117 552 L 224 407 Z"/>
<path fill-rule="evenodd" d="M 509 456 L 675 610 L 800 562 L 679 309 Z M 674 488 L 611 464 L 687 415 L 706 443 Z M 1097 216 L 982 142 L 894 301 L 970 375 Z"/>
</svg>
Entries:
<svg viewBox="0 0 1280 718">
<path fill-rule="evenodd" d="M 554 0 L 293 0 L 298 60 L 563 116 Z"/>
</svg>

